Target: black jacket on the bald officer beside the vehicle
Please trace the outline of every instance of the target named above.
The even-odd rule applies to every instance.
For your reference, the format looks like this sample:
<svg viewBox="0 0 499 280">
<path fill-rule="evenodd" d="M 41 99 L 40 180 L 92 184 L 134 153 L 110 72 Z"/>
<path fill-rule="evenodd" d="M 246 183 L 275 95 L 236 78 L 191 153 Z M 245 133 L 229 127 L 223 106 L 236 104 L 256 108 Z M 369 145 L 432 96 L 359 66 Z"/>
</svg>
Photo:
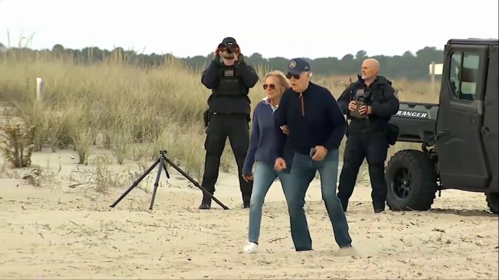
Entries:
<svg viewBox="0 0 499 280">
<path fill-rule="evenodd" d="M 378 76 L 374 82 L 367 87 L 361 76 L 359 80 L 351 83 L 338 98 L 338 105 L 344 115 L 351 119 L 348 133 L 368 133 L 386 131 L 391 117 L 399 110 L 399 99 L 392 82 L 384 76 Z M 350 117 L 348 104 L 355 99 L 357 90 L 362 89 L 369 93 L 367 104 L 371 106 L 371 115 L 366 119 Z"/>
</svg>

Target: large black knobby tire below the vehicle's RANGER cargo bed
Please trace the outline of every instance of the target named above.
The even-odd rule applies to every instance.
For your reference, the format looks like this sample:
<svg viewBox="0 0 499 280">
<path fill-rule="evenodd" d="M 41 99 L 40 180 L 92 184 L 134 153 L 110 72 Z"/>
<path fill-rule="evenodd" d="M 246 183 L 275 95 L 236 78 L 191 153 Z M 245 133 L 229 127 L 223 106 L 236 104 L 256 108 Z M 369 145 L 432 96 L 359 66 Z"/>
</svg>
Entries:
<svg viewBox="0 0 499 280">
<path fill-rule="evenodd" d="M 386 202 L 392 211 L 426 211 L 437 191 L 435 163 L 423 151 L 408 149 L 395 153 L 385 171 Z"/>
</svg>

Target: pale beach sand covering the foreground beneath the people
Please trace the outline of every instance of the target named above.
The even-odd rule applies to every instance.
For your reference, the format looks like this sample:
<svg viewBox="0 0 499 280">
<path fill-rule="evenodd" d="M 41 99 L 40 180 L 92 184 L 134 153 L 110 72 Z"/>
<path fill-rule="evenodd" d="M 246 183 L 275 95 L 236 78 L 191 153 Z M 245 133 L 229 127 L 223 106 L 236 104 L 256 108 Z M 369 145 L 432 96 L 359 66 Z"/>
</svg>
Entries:
<svg viewBox="0 0 499 280">
<path fill-rule="evenodd" d="M 306 197 L 314 251 L 299 253 L 275 182 L 261 253 L 248 255 L 249 210 L 234 174 L 221 173 L 216 192 L 230 210 L 198 210 L 201 191 L 173 171 L 162 174 L 152 211 L 152 194 L 139 187 L 110 208 L 129 182 L 99 194 L 78 185 L 91 166 L 77 162 L 73 151 L 44 150 L 33 155 L 41 177 L 0 179 L 1 279 L 498 279 L 498 216 L 481 193 L 445 191 L 431 211 L 374 214 L 370 187 L 357 186 L 347 213 L 357 255 L 342 257 L 319 181 Z M 152 190 L 156 172 L 140 186 Z"/>
</svg>

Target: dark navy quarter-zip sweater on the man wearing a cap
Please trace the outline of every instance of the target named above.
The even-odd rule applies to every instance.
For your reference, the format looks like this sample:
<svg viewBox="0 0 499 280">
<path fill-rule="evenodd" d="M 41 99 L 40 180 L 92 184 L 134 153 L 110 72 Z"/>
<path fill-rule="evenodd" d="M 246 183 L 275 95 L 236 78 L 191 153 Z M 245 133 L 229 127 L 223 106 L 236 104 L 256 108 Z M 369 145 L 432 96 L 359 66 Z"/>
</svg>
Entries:
<svg viewBox="0 0 499 280">
<path fill-rule="evenodd" d="M 337 149 L 345 135 L 346 121 L 338 103 L 328 89 L 312 82 L 303 94 L 286 90 L 274 115 L 277 157 L 282 157 L 286 141 L 280 126 L 287 125 L 295 151 L 302 154 L 317 145 Z"/>
</svg>

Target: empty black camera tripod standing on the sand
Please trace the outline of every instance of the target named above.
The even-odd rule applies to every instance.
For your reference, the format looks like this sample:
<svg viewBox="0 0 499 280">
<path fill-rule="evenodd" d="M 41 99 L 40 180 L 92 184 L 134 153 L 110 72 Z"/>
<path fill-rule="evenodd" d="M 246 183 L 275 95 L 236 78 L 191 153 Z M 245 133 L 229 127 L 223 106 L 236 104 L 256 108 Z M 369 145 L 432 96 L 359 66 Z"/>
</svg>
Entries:
<svg viewBox="0 0 499 280">
<path fill-rule="evenodd" d="M 154 204 L 154 198 L 156 197 L 156 190 L 158 189 L 158 184 L 159 184 L 159 178 L 161 176 L 161 170 L 165 170 L 166 172 L 166 177 L 170 179 L 170 174 L 168 174 L 168 170 L 166 169 L 166 163 L 168 162 L 170 165 L 173 166 L 177 171 L 179 171 L 184 177 L 186 177 L 191 183 L 193 183 L 195 186 L 200 188 L 205 194 L 207 194 L 211 199 L 213 199 L 215 202 L 217 202 L 224 210 L 229 209 L 229 207 L 225 206 L 222 202 L 220 202 L 215 196 L 213 196 L 210 192 L 208 192 L 205 188 L 203 188 L 198 182 L 196 182 L 191 176 L 189 176 L 184 170 L 180 169 L 179 166 L 177 166 L 175 163 L 173 163 L 168 157 L 166 157 L 166 150 L 160 150 L 161 156 L 154 162 L 133 184 L 130 186 L 110 207 L 116 206 L 134 187 L 136 187 L 144 177 L 151 172 L 151 170 L 160 164 L 159 169 L 158 169 L 158 174 L 156 175 L 156 181 L 154 182 L 154 190 L 153 190 L 153 196 L 151 198 L 151 204 L 149 205 L 149 210 L 153 209 L 153 204 Z"/>
</svg>

